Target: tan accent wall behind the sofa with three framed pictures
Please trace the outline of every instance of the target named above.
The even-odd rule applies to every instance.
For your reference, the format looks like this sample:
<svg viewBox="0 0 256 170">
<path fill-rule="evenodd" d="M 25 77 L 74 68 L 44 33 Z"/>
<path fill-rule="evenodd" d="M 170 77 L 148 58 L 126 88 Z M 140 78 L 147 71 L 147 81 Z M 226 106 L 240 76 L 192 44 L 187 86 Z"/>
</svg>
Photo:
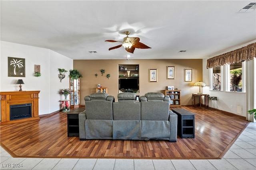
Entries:
<svg viewBox="0 0 256 170">
<path fill-rule="evenodd" d="M 108 88 L 108 94 L 117 102 L 118 64 L 139 64 L 140 96 L 147 92 L 163 92 L 167 86 L 182 90 L 181 104 L 192 104 L 192 93 L 199 92 L 194 83 L 202 81 L 202 59 L 145 59 L 145 60 L 74 60 L 74 69 L 81 74 L 80 104 L 84 96 L 96 92 L 98 84 Z M 166 79 L 166 67 L 175 66 L 175 79 Z M 192 82 L 184 82 L 184 68 L 192 68 Z M 100 69 L 105 73 L 101 75 Z M 149 69 L 157 69 L 158 82 L 149 82 Z M 96 77 L 95 74 L 98 74 Z M 110 78 L 106 77 L 110 74 Z M 202 91 L 202 89 L 201 89 Z"/>
</svg>

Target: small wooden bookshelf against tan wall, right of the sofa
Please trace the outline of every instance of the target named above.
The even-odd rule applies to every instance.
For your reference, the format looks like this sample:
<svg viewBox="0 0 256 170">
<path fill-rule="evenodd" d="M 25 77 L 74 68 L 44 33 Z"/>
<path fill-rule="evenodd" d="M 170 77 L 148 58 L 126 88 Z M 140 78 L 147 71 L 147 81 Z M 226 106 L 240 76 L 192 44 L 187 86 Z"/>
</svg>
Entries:
<svg viewBox="0 0 256 170">
<path fill-rule="evenodd" d="M 171 104 L 170 107 L 181 107 L 181 90 L 164 90 L 165 96 L 170 96 Z"/>
</svg>

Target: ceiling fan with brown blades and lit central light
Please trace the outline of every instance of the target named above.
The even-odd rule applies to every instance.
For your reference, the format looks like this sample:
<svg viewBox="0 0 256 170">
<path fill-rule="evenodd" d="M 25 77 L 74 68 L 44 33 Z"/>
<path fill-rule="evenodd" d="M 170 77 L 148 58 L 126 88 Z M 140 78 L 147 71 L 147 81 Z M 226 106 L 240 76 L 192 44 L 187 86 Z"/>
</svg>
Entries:
<svg viewBox="0 0 256 170">
<path fill-rule="evenodd" d="M 130 34 L 130 31 L 125 31 L 125 34 L 127 36 L 124 37 L 124 41 L 106 40 L 106 41 L 112 42 L 112 43 L 114 43 L 114 42 L 122 43 L 122 44 L 117 45 L 115 47 L 111 47 L 108 50 L 117 49 L 117 48 L 122 47 L 122 46 L 129 53 L 133 53 L 135 48 L 137 48 L 137 49 L 151 49 L 151 47 L 148 47 L 147 45 L 139 42 L 140 41 L 139 37 L 128 37 L 128 35 Z"/>
</svg>

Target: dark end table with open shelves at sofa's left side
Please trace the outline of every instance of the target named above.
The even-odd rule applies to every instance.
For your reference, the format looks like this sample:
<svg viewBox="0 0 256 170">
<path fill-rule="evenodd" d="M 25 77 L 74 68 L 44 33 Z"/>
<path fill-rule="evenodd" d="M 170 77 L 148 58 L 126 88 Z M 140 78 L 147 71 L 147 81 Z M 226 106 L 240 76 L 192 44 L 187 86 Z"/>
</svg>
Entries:
<svg viewBox="0 0 256 170">
<path fill-rule="evenodd" d="M 85 109 L 75 109 L 73 111 L 67 112 L 67 123 L 68 123 L 68 137 L 79 137 L 79 113 L 83 112 Z"/>
</svg>

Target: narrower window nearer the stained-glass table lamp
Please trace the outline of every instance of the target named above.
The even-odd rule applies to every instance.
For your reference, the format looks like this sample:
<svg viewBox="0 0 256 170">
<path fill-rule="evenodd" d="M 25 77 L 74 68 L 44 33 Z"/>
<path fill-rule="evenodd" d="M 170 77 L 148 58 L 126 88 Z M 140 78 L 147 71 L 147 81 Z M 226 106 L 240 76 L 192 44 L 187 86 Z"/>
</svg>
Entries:
<svg viewBox="0 0 256 170">
<path fill-rule="evenodd" d="M 222 82 L 222 66 L 210 68 L 210 90 L 220 91 Z"/>
</svg>

